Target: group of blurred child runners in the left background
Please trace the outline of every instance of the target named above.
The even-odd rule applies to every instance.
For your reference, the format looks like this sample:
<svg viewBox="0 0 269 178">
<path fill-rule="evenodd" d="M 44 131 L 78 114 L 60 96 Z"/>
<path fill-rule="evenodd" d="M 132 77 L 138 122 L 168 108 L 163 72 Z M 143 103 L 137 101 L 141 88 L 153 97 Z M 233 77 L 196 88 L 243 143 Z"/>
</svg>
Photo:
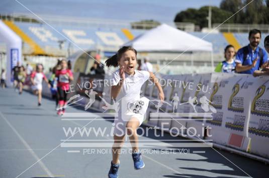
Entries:
<svg viewBox="0 0 269 178">
<path fill-rule="evenodd" d="M 17 64 L 12 69 L 13 86 L 16 92 L 22 94 L 25 85 L 31 87 L 33 93 L 37 95 L 38 106 L 41 106 L 43 81 L 48 85 L 51 91 L 52 99 L 55 100 L 56 110 L 58 115 L 63 115 L 65 112 L 64 105 L 66 104 L 69 83 L 73 80 L 71 72 L 71 62 L 65 59 L 58 60 L 57 64 L 50 69 L 50 74 L 47 79 L 43 72 L 42 64 L 36 64 L 35 69 L 27 64 L 26 68 L 23 65 Z M 6 85 L 6 70 L 1 72 L 1 86 Z"/>
</svg>

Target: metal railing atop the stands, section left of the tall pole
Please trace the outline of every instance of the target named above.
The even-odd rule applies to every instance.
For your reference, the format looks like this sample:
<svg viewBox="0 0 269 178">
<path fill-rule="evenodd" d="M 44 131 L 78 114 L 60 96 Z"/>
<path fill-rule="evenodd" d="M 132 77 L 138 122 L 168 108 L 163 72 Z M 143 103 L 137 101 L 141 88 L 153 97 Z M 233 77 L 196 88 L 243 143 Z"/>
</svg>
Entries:
<svg viewBox="0 0 269 178">
<path fill-rule="evenodd" d="M 49 24 L 65 25 L 65 26 L 80 26 L 80 27 L 95 27 L 95 28 L 128 28 L 128 29 L 142 29 L 148 30 L 155 28 L 159 25 L 156 22 L 135 22 L 131 20 L 115 20 L 115 19 L 98 19 L 98 18 L 82 18 L 82 17 L 70 17 L 70 16 L 50 16 L 50 15 L 39 15 L 44 21 Z M 1 15 L 2 20 L 11 20 L 16 22 L 28 22 L 28 23 L 40 23 L 32 14 L 12 14 L 12 15 Z M 175 28 L 194 32 L 199 29 L 193 23 L 174 23 L 174 22 L 161 22 Z"/>
</svg>

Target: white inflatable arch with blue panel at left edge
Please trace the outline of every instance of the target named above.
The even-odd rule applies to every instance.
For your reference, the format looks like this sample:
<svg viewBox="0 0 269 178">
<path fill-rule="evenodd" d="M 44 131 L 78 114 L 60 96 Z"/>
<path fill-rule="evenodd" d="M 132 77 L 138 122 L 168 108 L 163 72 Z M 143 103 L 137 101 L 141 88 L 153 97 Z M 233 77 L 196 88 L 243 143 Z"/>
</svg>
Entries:
<svg viewBox="0 0 269 178">
<path fill-rule="evenodd" d="M 0 42 L 7 47 L 7 85 L 12 86 L 12 69 L 22 64 L 22 39 L 0 20 Z"/>
</svg>

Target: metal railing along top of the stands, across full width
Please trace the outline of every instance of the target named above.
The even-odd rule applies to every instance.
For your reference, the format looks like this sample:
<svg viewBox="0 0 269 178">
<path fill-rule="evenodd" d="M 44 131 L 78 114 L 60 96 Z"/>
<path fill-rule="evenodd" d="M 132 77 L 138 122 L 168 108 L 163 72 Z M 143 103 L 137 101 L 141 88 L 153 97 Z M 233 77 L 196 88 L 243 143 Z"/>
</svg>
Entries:
<svg viewBox="0 0 269 178">
<path fill-rule="evenodd" d="M 115 20 L 115 19 L 98 19 L 98 18 L 83 18 L 83 17 L 70 17 L 70 16 L 51 16 L 51 15 L 39 15 L 44 21 L 56 25 L 65 26 L 80 26 L 80 27 L 94 27 L 94 28 L 128 28 L 128 29 L 142 29 L 148 30 L 155 28 L 159 25 L 156 22 L 135 22 L 132 20 Z M 16 22 L 28 22 L 28 23 L 40 23 L 32 14 L 1 14 L 1 20 L 11 20 Z M 174 23 L 174 22 L 161 22 L 167 25 L 173 26 L 177 29 L 194 32 L 201 31 L 200 27 L 193 23 Z M 213 24 L 213 28 L 216 28 L 219 24 Z M 237 32 L 248 33 L 251 29 L 259 29 L 262 33 L 269 33 L 268 24 L 222 24 L 219 28 L 219 32 Z"/>
</svg>

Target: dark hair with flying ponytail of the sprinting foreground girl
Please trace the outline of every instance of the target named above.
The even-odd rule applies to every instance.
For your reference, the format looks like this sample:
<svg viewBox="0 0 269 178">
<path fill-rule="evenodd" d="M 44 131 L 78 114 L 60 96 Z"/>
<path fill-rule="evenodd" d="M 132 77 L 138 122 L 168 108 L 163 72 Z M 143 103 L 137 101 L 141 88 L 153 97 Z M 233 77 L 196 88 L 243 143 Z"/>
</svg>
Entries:
<svg viewBox="0 0 269 178">
<path fill-rule="evenodd" d="M 118 67 L 119 66 L 118 61 L 121 59 L 122 54 L 129 50 L 133 51 L 135 53 L 135 56 L 137 55 L 137 52 L 133 47 L 123 46 L 119 49 L 119 51 L 115 55 L 106 60 L 106 66 Z"/>
</svg>

